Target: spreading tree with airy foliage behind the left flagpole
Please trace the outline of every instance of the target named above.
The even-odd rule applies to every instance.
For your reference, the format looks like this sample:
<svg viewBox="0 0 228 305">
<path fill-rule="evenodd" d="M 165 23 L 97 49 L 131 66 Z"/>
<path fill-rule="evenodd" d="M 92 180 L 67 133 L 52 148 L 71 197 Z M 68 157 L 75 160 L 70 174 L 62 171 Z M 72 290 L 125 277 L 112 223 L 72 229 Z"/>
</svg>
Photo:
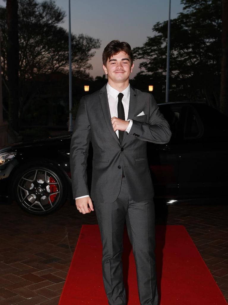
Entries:
<svg viewBox="0 0 228 305">
<path fill-rule="evenodd" d="M 36 76 L 55 72 L 68 72 L 68 32 L 60 27 L 65 13 L 54 1 L 18 0 L 19 18 L 19 84 L 20 118 L 29 108 L 34 96 L 39 93 Z M 7 27 L 6 10 L 0 8 L 2 29 L 2 71 L 3 82 L 8 86 L 6 65 Z M 71 35 L 72 72 L 74 76 L 88 76 L 86 70 L 92 69 L 89 60 L 94 56 L 92 49 L 100 47 L 100 40 L 79 34 Z M 26 81 L 32 90 L 27 90 Z"/>
</svg>

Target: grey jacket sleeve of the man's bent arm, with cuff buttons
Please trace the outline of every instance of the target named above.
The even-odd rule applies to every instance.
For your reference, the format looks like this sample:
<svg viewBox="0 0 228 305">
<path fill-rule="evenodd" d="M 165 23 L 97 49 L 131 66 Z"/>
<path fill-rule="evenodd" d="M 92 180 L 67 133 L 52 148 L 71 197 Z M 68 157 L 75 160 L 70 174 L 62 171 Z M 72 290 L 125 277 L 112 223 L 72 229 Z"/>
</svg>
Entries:
<svg viewBox="0 0 228 305">
<path fill-rule="evenodd" d="M 160 113 L 153 95 L 150 95 L 149 124 L 133 119 L 133 124 L 128 135 L 153 143 L 164 144 L 169 142 L 171 138 L 169 124 Z"/>
</svg>

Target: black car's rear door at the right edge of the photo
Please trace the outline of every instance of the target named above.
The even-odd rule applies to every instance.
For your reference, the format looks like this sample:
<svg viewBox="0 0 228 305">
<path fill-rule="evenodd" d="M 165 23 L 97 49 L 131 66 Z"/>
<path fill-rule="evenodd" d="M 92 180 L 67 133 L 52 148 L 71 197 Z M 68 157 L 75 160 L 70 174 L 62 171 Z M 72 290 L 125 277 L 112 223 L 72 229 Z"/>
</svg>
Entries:
<svg viewBox="0 0 228 305">
<path fill-rule="evenodd" d="M 205 104 L 184 107 L 179 147 L 178 195 L 214 197 L 227 186 L 227 124 Z"/>
</svg>

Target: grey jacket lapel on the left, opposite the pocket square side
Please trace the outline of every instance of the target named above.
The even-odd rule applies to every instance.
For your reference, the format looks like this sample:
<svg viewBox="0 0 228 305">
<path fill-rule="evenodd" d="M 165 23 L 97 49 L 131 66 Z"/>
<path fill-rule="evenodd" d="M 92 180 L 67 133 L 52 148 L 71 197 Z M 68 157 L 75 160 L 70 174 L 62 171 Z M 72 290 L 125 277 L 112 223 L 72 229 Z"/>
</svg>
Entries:
<svg viewBox="0 0 228 305">
<path fill-rule="evenodd" d="M 106 84 L 100 90 L 100 102 L 101 102 L 102 112 L 103 112 L 103 115 L 104 115 L 104 118 L 105 118 L 105 123 L 106 123 L 111 135 L 113 136 L 113 138 L 120 145 L 119 138 L 117 137 L 117 135 L 116 135 L 116 133 L 113 130 L 113 127 L 112 127 L 112 121 L 111 121 L 111 114 L 110 114 L 110 109 L 109 109 L 109 101 L 108 101 L 108 93 L 107 93 L 107 89 L 106 89 Z"/>
</svg>

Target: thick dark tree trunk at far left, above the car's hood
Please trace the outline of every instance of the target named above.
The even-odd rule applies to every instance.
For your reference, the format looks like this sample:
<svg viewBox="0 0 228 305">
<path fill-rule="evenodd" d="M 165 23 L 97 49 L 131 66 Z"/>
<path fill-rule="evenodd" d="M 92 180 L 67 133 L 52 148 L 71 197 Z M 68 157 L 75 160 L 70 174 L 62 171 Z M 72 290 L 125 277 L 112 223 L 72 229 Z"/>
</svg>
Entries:
<svg viewBox="0 0 228 305">
<path fill-rule="evenodd" d="M 19 41 L 17 10 L 17 0 L 7 0 L 6 20 L 8 27 L 8 40 L 6 58 L 9 88 L 9 123 L 15 131 L 18 130 L 19 109 Z"/>
</svg>

